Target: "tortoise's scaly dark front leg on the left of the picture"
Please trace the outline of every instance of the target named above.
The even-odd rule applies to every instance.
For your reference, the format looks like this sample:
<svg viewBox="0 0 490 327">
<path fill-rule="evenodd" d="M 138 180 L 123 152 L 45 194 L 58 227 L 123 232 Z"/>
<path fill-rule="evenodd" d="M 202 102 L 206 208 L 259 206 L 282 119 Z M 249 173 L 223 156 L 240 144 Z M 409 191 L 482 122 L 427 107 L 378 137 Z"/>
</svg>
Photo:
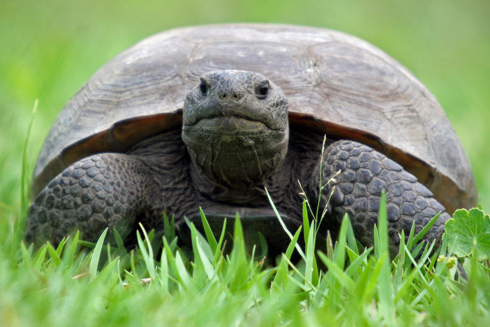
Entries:
<svg viewBox="0 0 490 327">
<path fill-rule="evenodd" d="M 36 246 L 80 230 L 94 242 L 105 228 L 122 238 L 135 227 L 154 189 L 149 168 L 126 154 L 96 154 L 73 163 L 31 205 L 25 238 Z"/>
</svg>

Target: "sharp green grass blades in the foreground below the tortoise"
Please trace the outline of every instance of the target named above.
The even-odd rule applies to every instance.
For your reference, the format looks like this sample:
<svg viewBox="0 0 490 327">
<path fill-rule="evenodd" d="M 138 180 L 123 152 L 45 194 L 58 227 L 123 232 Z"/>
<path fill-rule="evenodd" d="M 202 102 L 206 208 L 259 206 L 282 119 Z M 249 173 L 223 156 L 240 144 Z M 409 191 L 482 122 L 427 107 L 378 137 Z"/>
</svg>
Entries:
<svg viewBox="0 0 490 327">
<path fill-rule="evenodd" d="M 36 252 L 24 243 L 13 245 L 14 252 L 2 247 L 0 324 L 484 326 L 490 319 L 488 262 L 466 259 L 468 279 L 461 279 L 445 238 L 440 253 L 446 256 L 433 244 L 417 245 L 426 230 L 412 230 L 391 261 L 384 205 L 383 196 L 374 248 L 357 243 L 346 216 L 338 240 L 333 246 L 327 240 L 327 252 L 318 252 L 313 219 L 291 235 L 277 265 L 267 267 L 246 251 L 239 217 L 229 254 L 221 251 L 223 233 L 216 240 L 193 224 L 189 251 L 177 247 L 172 228 L 160 241 L 142 226 L 131 252 L 104 245 L 107 231 L 91 251 L 80 249 L 78 234 Z M 306 201 L 303 211 L 308 215 Z M 8 231 L 15 233 L 22 230 Z M 292 263 L 295 251 L 300 259 Z"/>
</svg>

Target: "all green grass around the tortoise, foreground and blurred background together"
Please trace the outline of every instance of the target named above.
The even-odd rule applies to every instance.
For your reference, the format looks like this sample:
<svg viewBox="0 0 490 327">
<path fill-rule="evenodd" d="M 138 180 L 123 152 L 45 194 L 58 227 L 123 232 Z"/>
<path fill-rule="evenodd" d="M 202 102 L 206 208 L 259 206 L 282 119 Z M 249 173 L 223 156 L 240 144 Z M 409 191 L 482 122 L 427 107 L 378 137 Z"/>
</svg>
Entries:
<svg viewBox="0 0 490 327">
<path fill-rule="evenodd" d="M 476 254 L 464 259 L 468 280 L 458 279 L 454 249 L 446 254 L 444 243 L 445 256 L 429 256 L 429 249 L 413 249 L 416 242 L 401 246 L 390 261 L 383 211 L 373 249 L 359 247 L 344 220 L 339 239 L 318 254 L 315 228 L 304 224 L 291 231 L 288 252 L 276 266 L 261 266 L 245 252 L 239 224 L 228 256 L 209 233 L 194 232 L 189 251 L 177 249 L 172 233 L 156 240 L 144 231 L 129 253 L 102 242 L 80 252 L 76 237 L 34 252 L 20 240 L 34 158 L 70 96 L 136 41 L 216 22 L 328 27 L 385 50 L 445 108 L 489 208 L 489 13 L 487 0 L 465 6 L 452 0 L 306 0 L 301 6 L 292 0 L 0 1 L 0 28 L 8 31 L 0 33 L 0 326 L 485 326 L 488 262 Z M 292 265 L 299 238 L 306 248 Z"/>
</svg>

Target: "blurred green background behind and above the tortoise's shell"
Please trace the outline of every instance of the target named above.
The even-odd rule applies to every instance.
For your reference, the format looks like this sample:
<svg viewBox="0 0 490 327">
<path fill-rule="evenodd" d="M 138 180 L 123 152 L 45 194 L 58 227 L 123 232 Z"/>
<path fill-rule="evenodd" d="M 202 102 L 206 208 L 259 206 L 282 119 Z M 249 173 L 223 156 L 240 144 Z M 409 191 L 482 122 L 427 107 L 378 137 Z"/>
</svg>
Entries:
<svg viewBox="0 0 490 327">
<path fill-rule="evenodd" d="M 34 101 L 29 174 L 64 103 L 97 68 L 172 27 L 283 22 L 359 36 L 435 94 L 490 210 L 490 1 L 0 1 L 0 216 L 20 205 L 22 147 Z"/>
</svg>

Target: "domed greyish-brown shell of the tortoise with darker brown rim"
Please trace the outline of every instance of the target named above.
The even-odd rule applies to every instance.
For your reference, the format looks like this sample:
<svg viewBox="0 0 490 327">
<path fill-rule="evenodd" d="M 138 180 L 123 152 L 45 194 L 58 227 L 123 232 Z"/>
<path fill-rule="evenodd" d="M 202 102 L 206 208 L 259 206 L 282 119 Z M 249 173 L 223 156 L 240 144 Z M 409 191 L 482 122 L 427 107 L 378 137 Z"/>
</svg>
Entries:
<svg viewBox="0 0 490 327">
<path fill-rule="evenodd" d="M 179 126 L 187 92 L 202 73 L 220 69 L 271 78 L 288 98 L 292 124 L 387 154 L 449 212 L 475 205 L 473 173 L 443 108 L 406 68 L 353 36 L 276 24 L 172 29 L 119 54 L 54 122 L 33 194 L 82 157 L 124 151 Z"/>
</svg>

